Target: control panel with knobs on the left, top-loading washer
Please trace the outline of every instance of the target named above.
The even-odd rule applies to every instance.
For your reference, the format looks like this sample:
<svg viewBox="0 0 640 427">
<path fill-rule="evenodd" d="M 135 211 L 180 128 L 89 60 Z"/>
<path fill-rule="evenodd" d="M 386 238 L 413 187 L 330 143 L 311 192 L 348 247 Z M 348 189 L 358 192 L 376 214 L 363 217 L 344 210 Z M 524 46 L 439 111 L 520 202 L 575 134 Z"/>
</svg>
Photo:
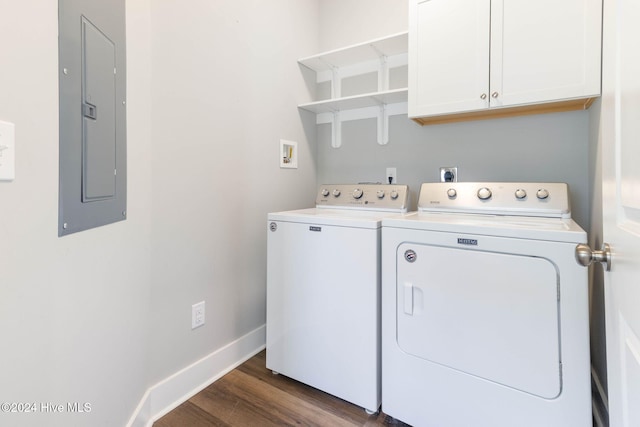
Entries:
<svg viewBox="0 0 640 427">
<path fill-rule="evenodd" d="M 387 184 L 323 184 L 316 207 L 407 212 L 409 186 Z"/>
</svg>

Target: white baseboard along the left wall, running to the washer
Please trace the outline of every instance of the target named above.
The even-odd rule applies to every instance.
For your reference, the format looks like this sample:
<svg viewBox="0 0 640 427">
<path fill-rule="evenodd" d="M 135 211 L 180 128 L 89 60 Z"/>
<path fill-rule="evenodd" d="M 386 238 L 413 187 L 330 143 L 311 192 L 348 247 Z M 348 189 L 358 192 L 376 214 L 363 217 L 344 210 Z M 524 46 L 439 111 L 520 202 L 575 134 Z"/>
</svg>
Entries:
<svg viewBox="0 0 640 427">
<path fill-rule="evenodd" d="M 262 325 L 152 386 L 127 427 L 151 427 L 154 421 L 262 351 L 265 337 L 266 326 Z"/>
</svg>

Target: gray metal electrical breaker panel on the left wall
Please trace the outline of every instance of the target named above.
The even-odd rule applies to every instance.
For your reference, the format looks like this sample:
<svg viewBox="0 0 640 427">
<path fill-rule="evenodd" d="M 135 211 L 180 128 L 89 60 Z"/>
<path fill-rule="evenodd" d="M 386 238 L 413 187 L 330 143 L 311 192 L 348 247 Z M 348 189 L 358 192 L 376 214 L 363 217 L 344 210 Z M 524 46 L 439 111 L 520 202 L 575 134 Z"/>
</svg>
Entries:
<svg viewBox="0 0 640 427">
<path fill-rule="evenodd" d="M 59 0 L 58 235 L 126 219 L 124 0 Z"/>
</svg>

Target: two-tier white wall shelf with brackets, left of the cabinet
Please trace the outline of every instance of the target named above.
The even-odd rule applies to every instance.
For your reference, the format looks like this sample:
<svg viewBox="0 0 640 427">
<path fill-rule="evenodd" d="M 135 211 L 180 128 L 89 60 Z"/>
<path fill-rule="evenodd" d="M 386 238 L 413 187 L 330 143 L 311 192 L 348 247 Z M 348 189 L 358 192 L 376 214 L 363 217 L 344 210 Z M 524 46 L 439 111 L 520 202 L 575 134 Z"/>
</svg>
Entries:
<svg viewBox="0 0 640 427">
<path fill-rule="evenodd" d="M 407 113 L 407 88 L 389 89 L 389 69 L 407 65 L 408 32 L 336 49 L 299 59 L 316 72 L 316 82 L 331 82 L 331 97 L 300 104 L 317 114 L 316 122 L 331 123 L 331 145 L 342 145 L 341 123 L 363 118 L 378 119 L 378 143 L 389 142 L 389 116 Z M 354 96 L 341 96 L 342 79 L 367 73 L 378 74 L 378 90 Z"/>
</svg>

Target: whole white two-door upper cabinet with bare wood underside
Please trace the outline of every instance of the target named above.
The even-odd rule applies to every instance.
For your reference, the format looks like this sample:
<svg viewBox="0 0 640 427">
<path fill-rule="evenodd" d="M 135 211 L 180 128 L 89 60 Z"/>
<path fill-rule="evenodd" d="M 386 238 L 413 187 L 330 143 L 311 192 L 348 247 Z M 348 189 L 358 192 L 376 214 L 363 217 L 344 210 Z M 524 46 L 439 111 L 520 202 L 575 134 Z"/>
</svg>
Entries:
<svg viewBox="0 0 640 427">
<path fill-rule="evenodd" d="M 600 95 L 602 0 L 411 0 L 409 116 L 587 108 Z"/>
</svg>

